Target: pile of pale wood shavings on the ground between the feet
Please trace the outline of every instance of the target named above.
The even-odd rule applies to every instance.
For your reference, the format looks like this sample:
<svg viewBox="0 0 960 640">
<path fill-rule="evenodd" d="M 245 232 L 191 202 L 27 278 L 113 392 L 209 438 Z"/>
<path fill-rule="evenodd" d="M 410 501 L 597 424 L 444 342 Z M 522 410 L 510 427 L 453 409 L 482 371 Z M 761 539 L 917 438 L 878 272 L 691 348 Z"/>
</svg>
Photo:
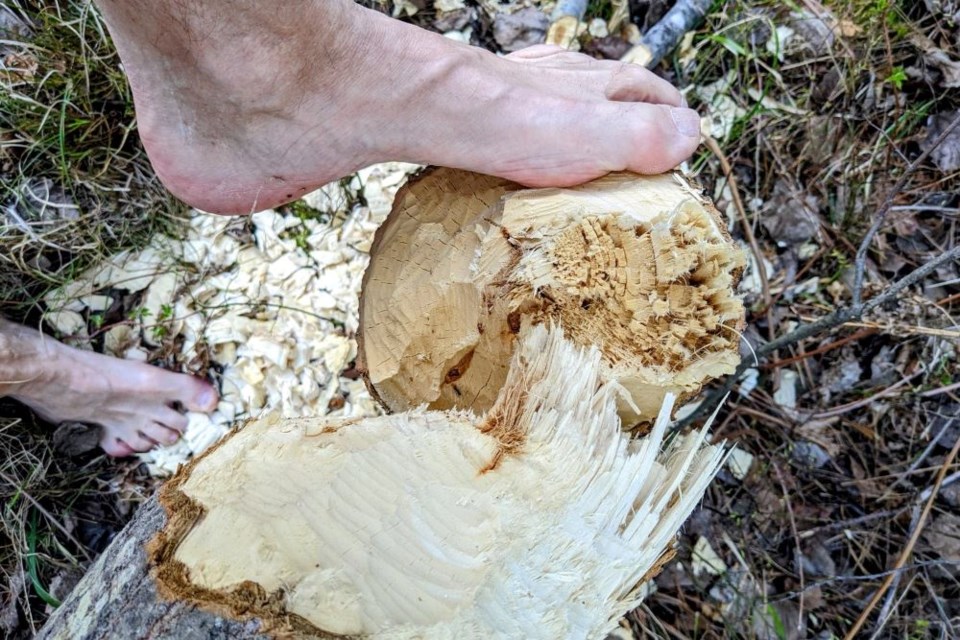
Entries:
<svg viewBox="0 0 960 640">
<path fill-rule="evenodd" d="M 143 251 L 114 256 L 47 297 L 54 309 L 47 321 L 63 335 L 86 336 L 79 311 L 112 303 L 96 292 L 142 292 L 134 319 L 105 331 L 104 351 L 146 362 L 157 347 L 176 345 L 177 361 L 206 354 L 221 372 L 216 411 L 188 413 L 179 442 L 140 454 L 152 474 L 173 473 L 249 418 L 379 414 L 363 382 L 341 373 L 356 357 L 358 296 L 373 233 L 417 168 L 389 163 L 360 171 L 350 188 L 368 205 L 352 210 L 341 183 L 308 194 L 303 202 L 317 219 L 272 210 L 249 219 L 194 211 L 183 239 L 158 236 Z M 66 308 L 77 300 L 78 310 Z"/>
</svg>

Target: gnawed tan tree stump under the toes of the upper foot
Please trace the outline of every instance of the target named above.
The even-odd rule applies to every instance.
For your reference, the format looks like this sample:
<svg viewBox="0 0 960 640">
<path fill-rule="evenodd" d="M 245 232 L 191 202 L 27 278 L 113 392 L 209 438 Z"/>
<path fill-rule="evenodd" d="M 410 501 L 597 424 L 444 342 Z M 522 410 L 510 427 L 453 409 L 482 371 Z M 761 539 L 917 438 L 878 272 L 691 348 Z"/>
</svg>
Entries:
<svg viewBox="0 0 960 640">
<path fill-rule="evenodd" d="M 739 363 L 745 264 L 716 209 L 680 174 L 612 174 L 524 189 L 434 169 L 397 195 L 360 305 L 360 368 L 394 411 L 489 409 L 523 327 L 557 322 L 597 345 L 649 422 Z M 631 406 L 635 404 L 636 406 Z"/>
</svg>

